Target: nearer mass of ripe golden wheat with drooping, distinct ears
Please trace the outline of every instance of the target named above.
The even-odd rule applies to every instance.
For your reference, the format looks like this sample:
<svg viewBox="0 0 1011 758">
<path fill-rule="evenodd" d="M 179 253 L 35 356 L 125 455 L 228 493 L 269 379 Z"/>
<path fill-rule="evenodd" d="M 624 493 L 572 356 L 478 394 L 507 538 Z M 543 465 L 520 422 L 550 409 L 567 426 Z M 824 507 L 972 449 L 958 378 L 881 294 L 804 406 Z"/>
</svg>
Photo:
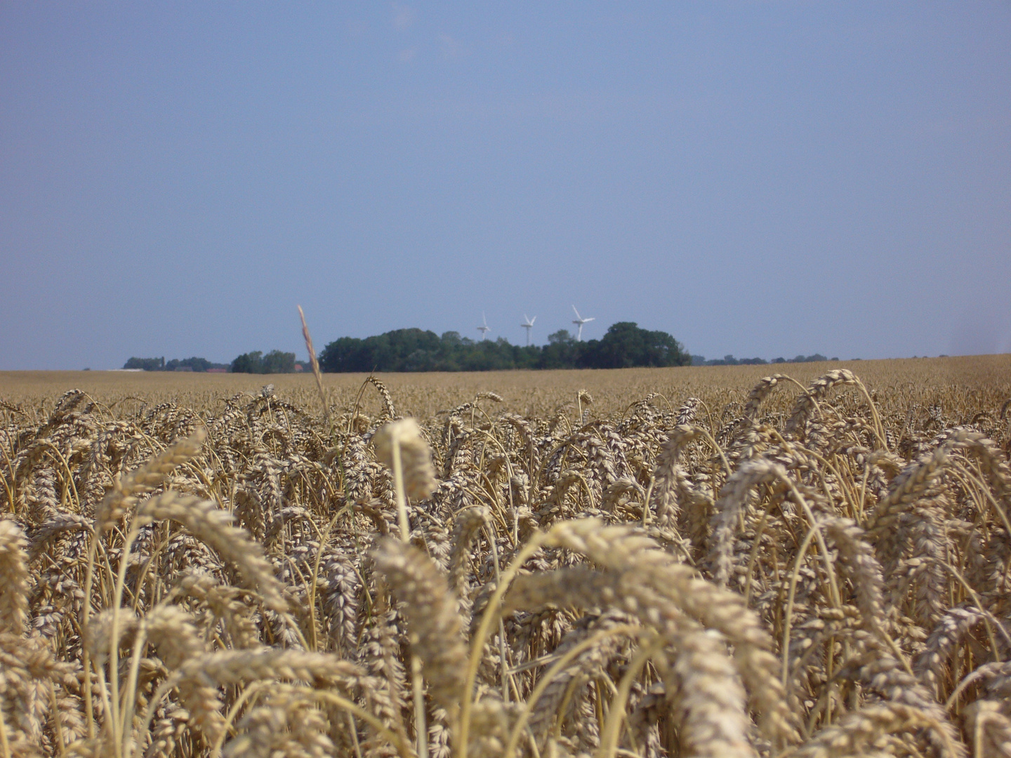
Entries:
<svg viewBox="0 0 1011 758">
<path fill-rule="evenodd" d="M 0 756 L 1011 754 L 1007 402 L 373 390 L 0 402 Z"/>
</svg>

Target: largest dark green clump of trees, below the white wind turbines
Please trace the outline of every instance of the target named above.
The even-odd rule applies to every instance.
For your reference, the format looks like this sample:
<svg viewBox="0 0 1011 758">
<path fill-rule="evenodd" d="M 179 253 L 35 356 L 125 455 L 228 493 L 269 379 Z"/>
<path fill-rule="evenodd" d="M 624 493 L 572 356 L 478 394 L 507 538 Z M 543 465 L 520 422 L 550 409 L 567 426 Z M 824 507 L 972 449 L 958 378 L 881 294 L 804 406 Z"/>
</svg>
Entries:
<svg viewBox="0 0 1011 758">
<path fill-rule="evenodd" d="M 665 331 L 613 324 L 603 340 L 576 342 L 566 329 L 543 347 L 509 341 L 470 340 L 458 331 L 439 337 L 419 328 L 396 329 L 360 340 L 343 337 L 319 356 L 324 371 L 493 371 L 502 369 L 627 368 L 685 366 L 691 356 Z"/>
</svg>

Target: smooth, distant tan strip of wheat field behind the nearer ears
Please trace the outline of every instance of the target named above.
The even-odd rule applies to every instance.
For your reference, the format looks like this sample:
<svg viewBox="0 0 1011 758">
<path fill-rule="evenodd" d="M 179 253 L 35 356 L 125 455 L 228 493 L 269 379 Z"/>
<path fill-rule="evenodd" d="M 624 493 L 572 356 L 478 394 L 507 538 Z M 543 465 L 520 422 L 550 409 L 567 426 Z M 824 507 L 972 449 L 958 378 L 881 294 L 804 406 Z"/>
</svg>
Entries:
<svg viewBox="0 0 1011 758">
<path fill-rule="evenodd" d="M 466 402 L 482 390 L 498 393 L 503 407 L 543 414 L 555 404 L 589 391 L 601 414 L 620 412 L 625 405 L 659 392 L 677 402 L 685 396 L 726 394 L 726 401 L 747 392 L 760 378 L 778 370 L 807 383 L 832 368 L 857 373 L 869 387 L 889 389 L 897 403 L 930 402 L 949 392 L 976 392 L 997 401 L 1011 388 L 1011 355 L 969 358 L 921 358 L 892 361 L 844 361 L 786 366 L 712 366 L 669 369 L 487 371 L 431 374 L 378 374 L 395 391 L 403 412 L 427 417 Z M 365 374 L 324 374 L 328 399 L 335 407 L 354 400 Z M 29 403 L 52 401 L 68 389 L 80 388 L 103 403 L 128 396 L 150 402 L 172 401 L 194 408 L 212 407 L 236 392 L 256 392 L 272 383 L 277 392 L 311 406 L 315 391 L 310 374 L 191 374 L 114 371 L 0 372 L 0 398 Z M 715 396 L 715 395 L 714 395 Z M 366 402 L 372 402 L 368 396 Z M 135 407 L 135 405 L 134 405 Z"/>
</svg>

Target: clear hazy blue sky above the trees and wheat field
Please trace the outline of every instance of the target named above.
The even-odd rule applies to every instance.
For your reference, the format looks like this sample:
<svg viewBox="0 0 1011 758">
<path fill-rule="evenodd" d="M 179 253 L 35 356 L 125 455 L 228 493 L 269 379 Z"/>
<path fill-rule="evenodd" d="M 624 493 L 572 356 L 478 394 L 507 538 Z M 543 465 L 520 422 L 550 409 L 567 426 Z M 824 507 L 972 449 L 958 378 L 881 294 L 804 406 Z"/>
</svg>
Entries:
<svg viewBox="0 0 1011 758">
<path fill-rule="evenodd" d="M 1011 351 L 1011 4 L 0 4 L 0 369 Z"/>
</svg>

